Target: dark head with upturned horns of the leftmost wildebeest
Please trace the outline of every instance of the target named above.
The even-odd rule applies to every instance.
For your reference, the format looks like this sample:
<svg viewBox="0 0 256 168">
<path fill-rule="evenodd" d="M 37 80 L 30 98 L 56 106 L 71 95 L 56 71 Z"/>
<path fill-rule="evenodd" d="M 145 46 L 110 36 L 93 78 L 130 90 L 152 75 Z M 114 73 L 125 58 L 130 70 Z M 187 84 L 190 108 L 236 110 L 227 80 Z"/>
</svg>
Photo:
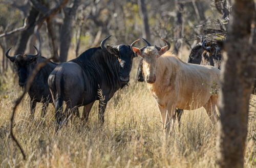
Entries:
<svg viewBox="0 0 256 168">
<path fill-rule="evenodd" d="M 36 54 L 17 54 L 10 56 L 9 51 L 11 48 L 9 48 L 5 53 L 6 57 L 16 66 L 18 74 L 18 85 L 20 87 L 25 86 L 29 74 L 37 63 L 37 56 L 39 55 L 39 51 L 35 46 L 34 48 L 36 49 Z"/>
</svg>

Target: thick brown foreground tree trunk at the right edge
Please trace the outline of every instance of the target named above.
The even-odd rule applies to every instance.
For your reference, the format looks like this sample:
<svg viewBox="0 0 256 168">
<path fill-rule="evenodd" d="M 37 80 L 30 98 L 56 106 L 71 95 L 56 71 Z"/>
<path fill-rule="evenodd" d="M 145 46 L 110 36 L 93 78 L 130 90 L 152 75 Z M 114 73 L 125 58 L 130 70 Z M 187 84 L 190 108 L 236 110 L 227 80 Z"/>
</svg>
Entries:
<svg viewBox="0 0 256 168">
<path fill-rule="evenodd" d="M 234 0 L 222 61 L 217 150 L 220 167 L 243 167 L 248 108 L 256 73 L 255 4 Z M 253 24 L 254 21 L 254 24 Z"/>
</svg>

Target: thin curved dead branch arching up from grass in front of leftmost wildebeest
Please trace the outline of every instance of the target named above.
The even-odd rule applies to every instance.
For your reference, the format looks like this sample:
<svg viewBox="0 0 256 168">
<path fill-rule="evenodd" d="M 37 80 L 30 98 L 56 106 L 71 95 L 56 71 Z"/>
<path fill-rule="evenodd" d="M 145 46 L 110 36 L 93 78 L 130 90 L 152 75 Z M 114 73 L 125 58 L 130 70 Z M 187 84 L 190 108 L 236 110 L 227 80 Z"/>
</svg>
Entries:
<svg viewBox="0 0 256 168">
<path fill-rule="evenodd" d="M 19 144 L 17 138 L 15 137 L 14 133 L 13 133 L 13 120 L 14 120 L 14 116 L 15 116 L 15 111 L 16 111 L 16 108 L 17 106 L 19 105 L 19 103 L 22 101 L 22 99 L 24 98 L 25 94 L 28 92 L 28 90 L 30 89 L 31 87 L 31 83 L 33 82 L 34 80 L 34 77 L 35 75 L 37 74 L 37 72 L 41 69 L 41 67 L 44 67 L 50 60 L 50 59 L 47 59 L 46 61 L 44 62 L 41 62 L 41 63 L 38 63 L 36 68 L 33 70 L 31 76 L 28 78 L 28 81 L 27 81 L 27 85 L 26 85 L 26 88 L 24 90 L 24 92 L 22 93 L 22 95 L 20 97 L 18 97 L 15 101 L 15 105 L 13 107 L 13 110 L 12 110 L 12 114 L 11 114 L 11 119 L 10 119 L 10 134 L 11 134 L 11 137 L 13 139 L 13 141 L 16 143 L 16 145 L 18 146 L 18 148 L 20 149 L 20 152 L 22 152 L 22 155 L 23 155 L 23 159 L 26 160 L 26 154 L 22 148 L 22 146 Z"/>
</svg>

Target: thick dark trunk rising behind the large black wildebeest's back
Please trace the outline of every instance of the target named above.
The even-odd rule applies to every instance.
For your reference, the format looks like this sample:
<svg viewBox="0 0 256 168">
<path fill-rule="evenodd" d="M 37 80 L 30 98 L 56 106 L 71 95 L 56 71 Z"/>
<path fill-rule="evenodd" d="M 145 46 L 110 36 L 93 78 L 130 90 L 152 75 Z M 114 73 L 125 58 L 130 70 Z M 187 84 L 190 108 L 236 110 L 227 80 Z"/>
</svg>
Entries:
<svg viewBox="0 0 256 168">
<path fill-rule="evenodd" d="M 59 61 L 66 62 L 68 58 L 68 51 L 71 43 L 72 37 L 72 22 L 76 15 L 76 10 L 80 4 L 81 0 L 74 0 L 73 6 L 71 8 L 65 8 L 65 18 L 63 21 L 63 25 L 61 26 L 60 31 L 60 53 L 59 53 Z"/>
</svg>

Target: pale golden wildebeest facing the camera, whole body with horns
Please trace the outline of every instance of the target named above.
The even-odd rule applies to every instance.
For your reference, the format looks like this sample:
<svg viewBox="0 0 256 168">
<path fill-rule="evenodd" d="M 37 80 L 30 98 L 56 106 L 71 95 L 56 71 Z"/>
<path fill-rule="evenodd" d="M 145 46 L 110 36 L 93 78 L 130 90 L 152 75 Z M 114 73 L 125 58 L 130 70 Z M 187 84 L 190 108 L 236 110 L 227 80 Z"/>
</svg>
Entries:
<svg viewBox="0 0 256 168">
<path fill-rule="evenodd" d="M 175 108 L 193 110 L 204 107 L 212 123 L 218 115 L 218 88 L 220 70 L 212 66 L 185 63 L 170 52 L 170 44 L 158 50 L 147 46 L 143 50 L 131 48 L 143 59 L 143 73 L 148 88 L 155 98 L 163 128 L 170 132 L 174 127 Z"/>
</svg>

